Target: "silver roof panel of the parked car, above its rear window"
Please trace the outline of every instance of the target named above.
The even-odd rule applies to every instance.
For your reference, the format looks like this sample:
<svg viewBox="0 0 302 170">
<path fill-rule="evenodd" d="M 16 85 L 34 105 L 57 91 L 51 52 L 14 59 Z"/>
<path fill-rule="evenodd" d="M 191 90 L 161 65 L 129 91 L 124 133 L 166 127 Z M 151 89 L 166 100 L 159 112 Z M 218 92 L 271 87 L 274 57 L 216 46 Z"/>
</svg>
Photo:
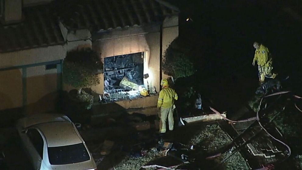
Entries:
<svg viewBox="0 0 302 170">
<path fill-rule="evenodd" d="M 47 141 L 47 147 L 59 147 L 83 143 L 71 122 L 49 122 L 34 126 Z"/>
</svg>

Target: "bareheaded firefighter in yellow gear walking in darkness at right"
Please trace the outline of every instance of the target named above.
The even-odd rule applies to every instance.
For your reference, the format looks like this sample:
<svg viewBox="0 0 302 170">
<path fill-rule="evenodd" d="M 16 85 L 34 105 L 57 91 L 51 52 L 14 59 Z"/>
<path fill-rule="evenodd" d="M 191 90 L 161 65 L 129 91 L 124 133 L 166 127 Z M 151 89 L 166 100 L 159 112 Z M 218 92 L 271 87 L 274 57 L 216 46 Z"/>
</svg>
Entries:
<svg viewBox="0 0 302 170">
<path fill-rule="evenodd" d="M 253 46 L 256 49 L 253 66 L 255 66 L 255 62 L 257 61 L 260 83 L 264 82 L 265 77 L 274 79 L 277 74 L 272 73 L 272 57 L 269 53 L 269 49 L 258 42 L 254 42 Z"/>
</svg>

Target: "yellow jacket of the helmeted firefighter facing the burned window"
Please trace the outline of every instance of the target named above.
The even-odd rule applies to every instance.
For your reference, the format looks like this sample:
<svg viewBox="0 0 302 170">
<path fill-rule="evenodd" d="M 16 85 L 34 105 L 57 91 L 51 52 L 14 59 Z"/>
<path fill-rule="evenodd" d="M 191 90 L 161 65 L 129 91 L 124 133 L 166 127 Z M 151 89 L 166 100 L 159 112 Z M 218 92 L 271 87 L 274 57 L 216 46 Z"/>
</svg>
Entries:
<svg viewBox="0 0 302 170">
<path fill-rule="evenodd" d="M 170 108 L 174 104 L 174 100 L 177 100 L 178 96 L 174 89 L 170 87 L 164 87 L 160 90 L 160 95 L 157 101 L 157 108 Z"/>
</svg>

